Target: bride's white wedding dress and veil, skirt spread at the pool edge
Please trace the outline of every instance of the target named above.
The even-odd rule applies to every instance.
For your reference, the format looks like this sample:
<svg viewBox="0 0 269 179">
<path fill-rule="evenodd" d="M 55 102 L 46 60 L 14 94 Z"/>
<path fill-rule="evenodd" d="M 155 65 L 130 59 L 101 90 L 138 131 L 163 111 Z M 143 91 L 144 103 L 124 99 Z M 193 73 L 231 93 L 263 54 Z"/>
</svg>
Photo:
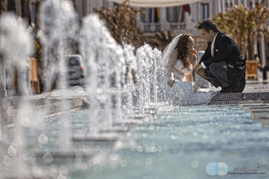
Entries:
<svg viewBox="0 0 269 179">
<path fill-rule="evenodd" d="M 209 89 L 201 89 L 192 82 L 186 81 L 184 75 L 188 75 L 192 71 L 192 66 L 190 70 L 182 69 L 183 62 L 177 60 L 174 68 L 174 79 L 175 83 L 173 87 L 167 85 L 168 81 L 168 59 L 175 49 L 176 44 L 181 35 L 175 37 L 173 41 L 166 47 L 161 55 L 161 65 L 163 66 L 163 78 L 160 81 L 160 96 L 164 102 L 173 105 L 199 105 L 208 104 L 211 99 L 218 93 Z M 181 71 L 181 72 L 178 72 Z M 184 74 L 182 76 L 182 73 Z M 182 78 L 184 77 L 184 78 Z"/>
</svg>

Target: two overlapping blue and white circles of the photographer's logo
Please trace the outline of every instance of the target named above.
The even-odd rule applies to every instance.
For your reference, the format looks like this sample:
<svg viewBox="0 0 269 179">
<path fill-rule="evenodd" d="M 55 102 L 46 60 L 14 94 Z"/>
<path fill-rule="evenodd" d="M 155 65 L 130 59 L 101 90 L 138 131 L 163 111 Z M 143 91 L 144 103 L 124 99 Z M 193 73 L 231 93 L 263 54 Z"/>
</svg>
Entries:
<svg viewBox="0 0 269 179">
<path fill-rule="evenodd" d="M 216 174 L 218 175 L 225 175 L 227 173 L 227 164 L 224 162 L 210 162 L 206 166 L 206 172 L 208 175 L 214 176 Z"/>
</svg>

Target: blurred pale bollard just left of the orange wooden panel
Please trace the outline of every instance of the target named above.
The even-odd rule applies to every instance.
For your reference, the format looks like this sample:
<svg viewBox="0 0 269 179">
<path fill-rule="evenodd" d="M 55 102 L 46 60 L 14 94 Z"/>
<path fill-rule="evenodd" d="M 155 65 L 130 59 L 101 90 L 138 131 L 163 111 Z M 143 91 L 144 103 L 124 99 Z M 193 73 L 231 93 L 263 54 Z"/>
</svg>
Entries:
<svg viewBox="0 0 269 179">
<path fill-rule="evenodd" d="M 29 64 L 26 62 L 26 60 L 20 59 L 16 68 L 18 73 L 18 95 L 30 95 L 31 82 Z"/>
</svg>

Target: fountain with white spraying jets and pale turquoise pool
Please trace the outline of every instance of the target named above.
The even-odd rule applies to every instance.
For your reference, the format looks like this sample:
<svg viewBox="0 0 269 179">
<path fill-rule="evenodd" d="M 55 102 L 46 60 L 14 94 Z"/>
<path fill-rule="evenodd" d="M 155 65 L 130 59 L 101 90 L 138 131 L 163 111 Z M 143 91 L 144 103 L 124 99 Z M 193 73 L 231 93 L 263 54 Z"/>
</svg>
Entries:
<svg viewBox="0 0 269 179">
<path fill-rule="evenodd" d="M 0 178 L 196 179 L 208 178 L 205 166 L 210 162 L 268 170 L 269 132 L 261 128 L 260 121 L 253 121 L 250 112 L 238 105 L 167 104 L 160 91 L 163 64 L 159 50 L 147 44 L 136 51 L 131 45 L 120 46 L 96 14 L 85 16 L 79 27 L 68 0 L 42 1 L 40 17 L 44 66 L 60 69 L 64 89 L 70 39 L 79 44 L 87 71 L 81 97 L 89 108 L 66 111 L 63 105 L 65 112 L 48 117 L 44 115 L 49 109 L 41 113 L 31 103 L 20 103 L 21 99 L 13 103 L 1 100 Z M 0 21 L 4 22 L 3 17 Z M 23 27 L 19 31 L 26 33 Z M 31 38 L 25 39 L 29 46 L 14 43 L 25 47 L 16 54 L 27 57 Z M 45 69 L 49 88 L 53 76 Z M 23 94 L 27 95 L 27 79 L 24 82 Z M 72 91 L 56 92 L 63 104 L 66 96 L 72 96 Z M 44 106 L 48 101 L 45 99 Z M 261 176 L 265 175 L 252 177 Z"/>
</svg>

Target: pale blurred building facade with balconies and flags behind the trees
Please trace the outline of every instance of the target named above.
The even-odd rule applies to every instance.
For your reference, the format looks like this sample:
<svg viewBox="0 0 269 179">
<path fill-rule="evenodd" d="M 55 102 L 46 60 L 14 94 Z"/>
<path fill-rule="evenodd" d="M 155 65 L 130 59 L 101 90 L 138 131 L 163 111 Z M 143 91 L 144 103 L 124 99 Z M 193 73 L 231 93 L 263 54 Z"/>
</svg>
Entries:
<svg viewBox="0 0 269 179">
<path fill-rule="evenodd" d="M 15 11 L 18 16 L 27 18 L 30 23 L 37 23 L 37 13 L 40 2 L 43 0 L 1 0 L 1 9 Z M 72 0 L 79 17 L 82 18 L 102 6 L 112 9 L 116 5 L 113 1 L 107 0 Z M 197 50 L 205 50 L 207 43 L 201 37 L 201 32 L 196 30 L 198 22 L 202 19 L 211 18 L 218 13 L 226 13 L 229 6 L 243 4 L 250 10 L 262 0 L 201 0 L 191 4 L 175 7 L 154 7 L 142 8 L 146 14 L 137 16 L 138 26 L 144 36 L 153 36 L 156 32 L 172 30 L 174 35 L 190 33 L 195 38 Z M 265 5 L 269 7 L 268 0 Z M 269 23 L 268 23 L 269 24 Z M 257 41 L 259 43 L 259 40 Z M 265 37 L 265 52 L 269 52 L 268 40 Z M 253 55 L 259 53 L 261 43 L 254 45 Z M 262 49 L 262 48 L 260 48 Z M 269 53 L 266 54 L 266 57 Z"/>
</svg>

